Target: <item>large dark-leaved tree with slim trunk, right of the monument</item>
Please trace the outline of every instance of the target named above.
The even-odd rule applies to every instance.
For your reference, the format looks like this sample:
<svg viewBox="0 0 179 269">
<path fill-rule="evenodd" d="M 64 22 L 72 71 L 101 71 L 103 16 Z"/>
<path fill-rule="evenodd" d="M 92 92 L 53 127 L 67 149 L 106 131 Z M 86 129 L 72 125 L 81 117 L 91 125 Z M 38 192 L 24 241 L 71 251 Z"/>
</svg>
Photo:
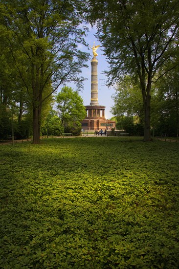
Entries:
<svg viewBox="0 0 179 269">
<path fill-rule="evenodd" d="M 151 85 L 157 71 L 175 67 L 179 38 L 178 0 L 87 0 L 88 20 L 110 64 L 109 84 L 121 74 L 137 72 L 144 110 L 144 141 L 151 140 Z"/>
</svg>

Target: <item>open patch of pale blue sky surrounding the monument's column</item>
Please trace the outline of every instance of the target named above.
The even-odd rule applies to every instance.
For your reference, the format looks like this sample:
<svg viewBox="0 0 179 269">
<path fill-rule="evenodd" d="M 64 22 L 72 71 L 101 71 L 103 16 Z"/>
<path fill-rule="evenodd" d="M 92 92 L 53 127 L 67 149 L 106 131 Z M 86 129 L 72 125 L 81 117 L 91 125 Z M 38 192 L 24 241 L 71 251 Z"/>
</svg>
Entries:
<svg viewBox="0 0 179 269">
<path fill-rule="evenodd" d="M 100 45 L 99 42 L 96 40 L 94 37 L 94 34 L 96 32 L 95 27 L 91 28 L 90 27 L 90 32 L 88 33 L 88 37 L 86 37 L 86 42 L 88 45 L 92 46 L 93 43 L 95 42 L 95 45 Z M 79 44 L 79 48 L 82 51 L 87 51 L 90 52 L 90 60 L 93 57 L 92 54 L 92 49 L 88 50 L 88 48 L 84 45 Z M 106 61 L 105 56 L 103 55 L 102 49 L 99 47 L 96 50 L 98 56 L 96 57 L 98 59 L 98 102 L 99 105 L 105 106 L 105 117 L 106 119 L 110 119 L 113 115 L 110 112 L 111 107 L 113 106 L 113 100 L 112 100 L 112 94 L 115 93 L 115 90 L 110 87 L 108 88 L 105 83 L 106 83 L 106 76 L 102 74 L 104 70 L 108 70 L 108 63 Z M 90 65 L 90 60 L 87 62 L 87 65 L 89 66 L 88 68 L 83 68 L 82 69 L 82 76 L 87 78 L 88 80 L 84 82 L 84 90 L 80 92 L 80 95 L 82 96 L 84 100 L 84 105 L 90 105 L 90 90 L 91 90 L 91 65 Z M 74 89 L 73 85 L 69 85 Z"/>
</svg>

